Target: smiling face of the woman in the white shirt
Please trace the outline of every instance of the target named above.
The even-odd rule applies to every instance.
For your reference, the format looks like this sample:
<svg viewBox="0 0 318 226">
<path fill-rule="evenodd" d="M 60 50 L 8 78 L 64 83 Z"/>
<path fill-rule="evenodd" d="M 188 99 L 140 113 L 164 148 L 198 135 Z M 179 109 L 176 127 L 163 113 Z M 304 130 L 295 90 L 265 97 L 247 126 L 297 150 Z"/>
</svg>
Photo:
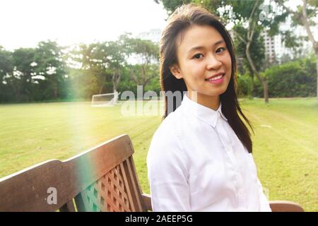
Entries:
<svg viewBox="0 0 318 226">
<path fill-rule="evenodd" d="M 178 65 L 170 71 L 184 79 L 188 92 L 197 91 L 197 100 L 218 101 L 232 73 L 230 52 L 218 30 L 208 25 L 190 27 L 181 42 L 180 37 L 177 40 L 177 59 Z"/>
</svg>

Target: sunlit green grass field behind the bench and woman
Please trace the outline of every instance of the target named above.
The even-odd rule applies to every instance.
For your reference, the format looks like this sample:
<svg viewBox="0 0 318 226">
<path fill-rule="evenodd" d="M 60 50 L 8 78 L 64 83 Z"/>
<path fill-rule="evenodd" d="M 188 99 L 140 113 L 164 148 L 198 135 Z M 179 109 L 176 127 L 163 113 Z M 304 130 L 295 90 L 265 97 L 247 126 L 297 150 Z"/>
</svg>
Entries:
<svg viewBox="0 0 318 226">
<path fill-rule="evenodd" d="M 270 200 L 318 211 L 318 107 L 314 98 L 242 100 L 254 125 L 254 159 Z M 65 160 L 122 133 L 135 148 L 143 191 L 146 155 L 160 116 L 121 114 L 88 102 L 0 105 L 0 177 L 49 159 Z"/>
</svg>

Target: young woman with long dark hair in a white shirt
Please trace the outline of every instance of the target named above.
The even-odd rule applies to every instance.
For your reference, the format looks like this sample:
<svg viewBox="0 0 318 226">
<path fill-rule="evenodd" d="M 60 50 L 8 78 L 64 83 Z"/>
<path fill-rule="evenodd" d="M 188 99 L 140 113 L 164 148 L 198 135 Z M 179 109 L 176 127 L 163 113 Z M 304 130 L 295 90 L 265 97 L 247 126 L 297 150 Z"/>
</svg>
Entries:
<svg viewBox="0 0 318 226">
<path fill-rule="evenodd" d="M 194 4 L 170 16 L 160 81 L 165 93 L 177 94 L 165 96 L 148 151 L 153 210 L 271 211 L 237 101 L 232 40 L 216 16 Z"/>
</svg>

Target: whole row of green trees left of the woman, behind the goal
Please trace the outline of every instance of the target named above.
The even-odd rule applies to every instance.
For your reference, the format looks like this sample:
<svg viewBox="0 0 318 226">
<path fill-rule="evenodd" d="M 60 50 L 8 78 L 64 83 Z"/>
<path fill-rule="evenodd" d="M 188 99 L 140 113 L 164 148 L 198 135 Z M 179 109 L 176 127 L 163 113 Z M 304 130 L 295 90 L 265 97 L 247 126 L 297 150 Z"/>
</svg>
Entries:
<svg viewBox="0 0 318 226">
<path fill-rule="evenodd" d="M 137 85 L 157 92 L 158 57 L 158 44 L 129 34 L 68 48 L 52 41 L 13 52 L 0 47 L 0 102 L 89 100 L 113 90 L 136 93 Z"/>
</svg>

